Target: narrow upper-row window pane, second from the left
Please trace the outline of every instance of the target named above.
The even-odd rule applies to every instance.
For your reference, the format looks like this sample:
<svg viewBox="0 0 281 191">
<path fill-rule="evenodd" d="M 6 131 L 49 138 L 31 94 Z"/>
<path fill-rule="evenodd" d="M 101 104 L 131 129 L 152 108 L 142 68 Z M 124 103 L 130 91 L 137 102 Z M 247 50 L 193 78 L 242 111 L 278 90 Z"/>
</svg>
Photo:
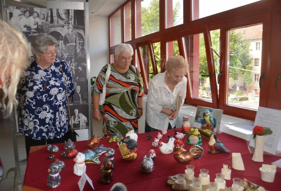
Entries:
<svg viewBox="0 0 281 191">
<path fill-rule="evenodd" d="M 132 39 L 131 1 L 124 6 L 124 41 Z"/>
</svg>

